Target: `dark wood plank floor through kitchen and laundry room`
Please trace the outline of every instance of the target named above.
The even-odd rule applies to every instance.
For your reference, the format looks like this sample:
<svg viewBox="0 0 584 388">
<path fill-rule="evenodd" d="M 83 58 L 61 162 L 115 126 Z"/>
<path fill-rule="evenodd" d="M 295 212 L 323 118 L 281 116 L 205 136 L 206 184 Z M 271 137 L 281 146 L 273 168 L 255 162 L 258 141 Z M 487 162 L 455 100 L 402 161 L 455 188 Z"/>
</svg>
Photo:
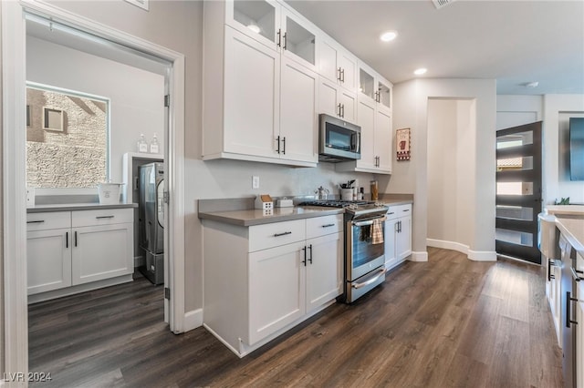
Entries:
<svg viewBox="0 0 584 388">
<path fill-rule="evenodd" d="M 353 305 L 335 304 L 239 359 L 162 322 L 143 278 L 29 308 L 30 371 L 58 387 L 561 387 L 543 269 L 429 250 Z"/>
</svg>

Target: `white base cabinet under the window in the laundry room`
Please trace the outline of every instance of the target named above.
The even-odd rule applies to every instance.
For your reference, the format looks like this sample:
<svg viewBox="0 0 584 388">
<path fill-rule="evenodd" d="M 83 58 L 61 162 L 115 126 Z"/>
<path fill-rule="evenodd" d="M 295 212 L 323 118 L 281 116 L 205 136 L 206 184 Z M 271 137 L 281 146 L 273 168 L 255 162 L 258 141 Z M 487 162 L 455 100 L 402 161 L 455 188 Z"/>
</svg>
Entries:
<svg viewBox="0 0 584 388">
<path fill-rule="evenodd" d="M 26 222 L 29 295 L 134 271 L 133 209 L 28 213 Z"/>
</svg>

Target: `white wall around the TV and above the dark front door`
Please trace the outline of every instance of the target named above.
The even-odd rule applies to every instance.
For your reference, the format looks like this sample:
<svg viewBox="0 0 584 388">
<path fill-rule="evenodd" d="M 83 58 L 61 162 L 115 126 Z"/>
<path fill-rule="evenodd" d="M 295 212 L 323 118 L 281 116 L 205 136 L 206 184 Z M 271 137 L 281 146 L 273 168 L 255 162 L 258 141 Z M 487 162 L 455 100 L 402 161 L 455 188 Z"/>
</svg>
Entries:
<svg viewBox="0 0 584 388">
<path fill-rule="evenodd" d="M 496 128 L 515 127 L 543 121 L 543 199 L 544 205 L 570 198 L 584 203 L 584 181 L 568 176 L 568 118 L 584 117 L 584 96 L 497 96 Z"/>
</svg>

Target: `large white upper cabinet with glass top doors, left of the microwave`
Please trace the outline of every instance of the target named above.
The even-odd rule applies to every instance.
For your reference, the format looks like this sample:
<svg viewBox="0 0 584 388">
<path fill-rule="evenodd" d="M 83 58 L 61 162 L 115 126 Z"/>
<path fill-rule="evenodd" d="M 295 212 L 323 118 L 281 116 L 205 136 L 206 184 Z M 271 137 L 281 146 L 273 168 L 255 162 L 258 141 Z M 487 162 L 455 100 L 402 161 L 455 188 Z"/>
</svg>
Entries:
<svg viewBox="0 0 584 388">
<path fill-rule="evenodd" d="M 204 4 L 203 159 L 314 167 L 314 26 L 272 1 Z"/>
</svg>

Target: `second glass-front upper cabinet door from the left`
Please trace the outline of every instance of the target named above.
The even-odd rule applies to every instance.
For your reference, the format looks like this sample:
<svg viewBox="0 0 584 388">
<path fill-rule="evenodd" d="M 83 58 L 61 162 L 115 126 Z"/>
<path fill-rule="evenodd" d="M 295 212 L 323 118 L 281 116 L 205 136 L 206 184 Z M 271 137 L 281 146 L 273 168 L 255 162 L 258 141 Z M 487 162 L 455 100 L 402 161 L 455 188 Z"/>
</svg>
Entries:
<svg viewBox="0 0 584 388">
<path fill-rule="evenodd" d="M 295 15 L 283 10 L 282 13 L 281 46 L 283 53 L 297 61 L 301 58 L 302 65 L 317 71 L 317 36 L 305 24 L 299 21 Z"/>
</svg>

